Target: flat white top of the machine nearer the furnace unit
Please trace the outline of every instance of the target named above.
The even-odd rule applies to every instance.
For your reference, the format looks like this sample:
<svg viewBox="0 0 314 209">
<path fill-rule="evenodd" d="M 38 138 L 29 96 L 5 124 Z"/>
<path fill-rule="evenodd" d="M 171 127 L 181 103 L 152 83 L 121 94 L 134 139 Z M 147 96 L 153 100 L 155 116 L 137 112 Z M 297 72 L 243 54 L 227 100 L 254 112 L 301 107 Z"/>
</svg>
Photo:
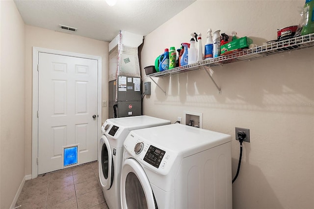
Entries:
<svg viewBox="0 0 314 209">
<path fill-rule="evenodd" d="M 170 121 L 168 120 L 155 118 L 155 117 L 151 117 L 147 115 L 123 117 L 123 118 L 110 118 L 110 119 L 107 119 L 106 122 L 113 124 L 117 127 L 128 128 L 129 131 L 170 124 Z"/>
</svg>

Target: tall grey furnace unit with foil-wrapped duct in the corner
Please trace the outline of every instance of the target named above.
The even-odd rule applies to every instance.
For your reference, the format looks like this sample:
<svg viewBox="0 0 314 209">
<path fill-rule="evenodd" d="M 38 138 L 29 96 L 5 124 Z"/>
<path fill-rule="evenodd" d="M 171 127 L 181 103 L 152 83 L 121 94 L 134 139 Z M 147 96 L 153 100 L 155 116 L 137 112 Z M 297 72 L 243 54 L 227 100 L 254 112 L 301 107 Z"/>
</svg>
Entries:
<svg viewBox="0 0 314 209">
<path fill-rule="evenodd" d="M 109 43 L 109 118 L 142 114 L 138 46 L 143 36 L 127 31 Z"/>
</svg>

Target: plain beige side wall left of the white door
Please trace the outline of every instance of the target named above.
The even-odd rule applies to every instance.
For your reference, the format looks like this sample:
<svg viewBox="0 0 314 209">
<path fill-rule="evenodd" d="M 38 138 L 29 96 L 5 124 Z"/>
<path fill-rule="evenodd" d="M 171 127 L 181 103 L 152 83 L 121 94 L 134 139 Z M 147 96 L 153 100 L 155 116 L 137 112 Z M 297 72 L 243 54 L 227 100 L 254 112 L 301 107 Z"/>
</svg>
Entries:
<svg viewBox="0 0 314 209">
<path fill-rule="evenodd" d="M 0 208 L 25 177 L 25 25 L 13 1 L 0 1 Z"/>
</svg>

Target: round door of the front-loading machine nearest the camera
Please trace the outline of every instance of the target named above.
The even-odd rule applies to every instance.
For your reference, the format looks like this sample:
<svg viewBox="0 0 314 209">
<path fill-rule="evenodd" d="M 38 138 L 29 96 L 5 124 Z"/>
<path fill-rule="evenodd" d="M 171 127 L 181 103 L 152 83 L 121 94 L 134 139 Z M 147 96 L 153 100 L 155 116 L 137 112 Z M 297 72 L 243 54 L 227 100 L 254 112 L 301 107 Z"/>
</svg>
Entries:
<svg viewBox="0 0 314 209">
<path fill-rule="evenodd" d="M 126 159 L 121 171 L 122 209 L 157 209 L 154 193 L 142 166 Z"/>
</svg>

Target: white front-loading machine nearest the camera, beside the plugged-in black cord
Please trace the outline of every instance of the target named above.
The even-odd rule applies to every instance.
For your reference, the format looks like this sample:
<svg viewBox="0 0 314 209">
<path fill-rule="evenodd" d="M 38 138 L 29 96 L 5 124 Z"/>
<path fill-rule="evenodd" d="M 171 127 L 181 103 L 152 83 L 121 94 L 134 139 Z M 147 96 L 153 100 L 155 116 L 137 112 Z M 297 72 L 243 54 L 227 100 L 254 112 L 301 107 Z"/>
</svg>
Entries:
<svg viewBox="0 0 314 209">
<path fill-rule="evenodd" d="M 231 140 L 182 124 L 131 131 L 122 209 L 232 209 Z"/>
</svg>

